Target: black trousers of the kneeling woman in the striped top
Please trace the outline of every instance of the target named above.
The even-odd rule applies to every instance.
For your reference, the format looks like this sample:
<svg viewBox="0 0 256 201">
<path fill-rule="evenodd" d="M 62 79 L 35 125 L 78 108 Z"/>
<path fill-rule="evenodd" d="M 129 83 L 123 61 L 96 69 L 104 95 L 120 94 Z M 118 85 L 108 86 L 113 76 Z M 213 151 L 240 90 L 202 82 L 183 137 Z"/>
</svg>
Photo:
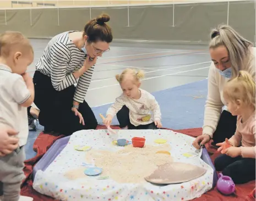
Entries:
<svg viewBox="0 0 256 201">
<path fill-rule="evenodd" d="M 34 103 L 40 109 L 39 123 L 45 126 L 45 131 L 72 135 L 75 131 L 96 129 L 97 120 L 85 100 L 80 103 L 78 110 L 83 115 L 85 125 L 79 123 L 79 117 L 71 110 L 75 93 L 74 85 L 56 91 L 52 86 L 51 78 L 39 71 L 35 71 L 33 82 Z"/>
</svg>

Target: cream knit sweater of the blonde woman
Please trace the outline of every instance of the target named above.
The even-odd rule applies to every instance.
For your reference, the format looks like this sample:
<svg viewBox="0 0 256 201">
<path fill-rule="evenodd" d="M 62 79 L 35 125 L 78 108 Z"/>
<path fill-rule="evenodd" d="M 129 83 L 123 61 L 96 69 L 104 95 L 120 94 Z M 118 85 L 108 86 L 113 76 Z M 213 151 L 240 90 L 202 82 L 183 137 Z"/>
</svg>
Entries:
<svg viewBox="0 0 256 201">
<path fill-rule="evenodd" d="M 249 62 L 243 68 L 243 70 L 249 71 L 253 77 L 255 77 L 255 54 L 256 48 L 252 48 Z M 203 134 L 208 134 L 211 137 L 216 130 L 222 107 L 226 105 L 222 92 L 227 81 L 228 79 L 220 75 L 212 62 L 208 74 L 208 97 L 205 104 L 203 125 Z"/>
</svg>

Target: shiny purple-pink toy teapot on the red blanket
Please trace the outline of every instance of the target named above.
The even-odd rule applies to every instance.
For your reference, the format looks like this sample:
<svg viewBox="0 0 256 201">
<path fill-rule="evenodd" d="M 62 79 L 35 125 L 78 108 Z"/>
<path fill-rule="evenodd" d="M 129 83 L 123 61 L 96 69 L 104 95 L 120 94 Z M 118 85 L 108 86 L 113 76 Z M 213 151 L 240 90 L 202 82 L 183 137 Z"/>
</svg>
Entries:
<svg viewBox="0 0 256 201">
<path fill-rule="evenodd" d="M 217 189 L 221 193 L 228 196 L 233 192 L 235 192 L 236 186 L 231 177 L 224 176 L 221 173 L 218 176 L 219 176 L 219 180 L 217 181 Z"/>
</svg>

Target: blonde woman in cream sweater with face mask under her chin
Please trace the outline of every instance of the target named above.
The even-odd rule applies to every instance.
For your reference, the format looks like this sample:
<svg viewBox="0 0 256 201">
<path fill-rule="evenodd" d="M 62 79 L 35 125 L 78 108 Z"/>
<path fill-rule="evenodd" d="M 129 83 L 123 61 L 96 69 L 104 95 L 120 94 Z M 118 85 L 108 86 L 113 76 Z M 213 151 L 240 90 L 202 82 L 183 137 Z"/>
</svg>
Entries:
<svg viewBox="0 0 256 201">
<path fill-rule="evenodd" d="M 253 43 L 243 38 L 232 27 L 221 25 L 211 31 L 209 45 L 211 60 L 208 75 L 208 97 L 205 104 L 203 135 L 193 142 L 200 148 L 213 138 L 213 144 L 224 142 L 236 131 L 237 116 L 232 116 L 222 91 L 225 83 L 238 76 L 239 70 L 248 71 L 255 78 L 255 49 Z"/>
</svg>

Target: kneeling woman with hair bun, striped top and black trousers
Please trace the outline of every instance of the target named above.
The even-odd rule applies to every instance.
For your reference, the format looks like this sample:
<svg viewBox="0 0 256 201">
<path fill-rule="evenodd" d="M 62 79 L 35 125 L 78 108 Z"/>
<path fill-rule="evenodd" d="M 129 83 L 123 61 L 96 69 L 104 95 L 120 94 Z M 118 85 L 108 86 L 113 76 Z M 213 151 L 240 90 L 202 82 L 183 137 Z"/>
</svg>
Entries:
<svg viewBox="0 0 256 201">
<path fill-rule="evenodd" d="M 40 109 L 38 119 L 45 132 L 72 135 L 96 129 L 97 120 L 85 95 L 97 57 L 110 49 L 113 40 L 111 27 L 106 24 L 109 20 L 110 16 L 102 14 L 88 21 L 84 31 L 58 34 L 36 63 L 34 103 Z M 32 110 L 28 108 L 30 125 L 34 120 Z"/>
</svg>

